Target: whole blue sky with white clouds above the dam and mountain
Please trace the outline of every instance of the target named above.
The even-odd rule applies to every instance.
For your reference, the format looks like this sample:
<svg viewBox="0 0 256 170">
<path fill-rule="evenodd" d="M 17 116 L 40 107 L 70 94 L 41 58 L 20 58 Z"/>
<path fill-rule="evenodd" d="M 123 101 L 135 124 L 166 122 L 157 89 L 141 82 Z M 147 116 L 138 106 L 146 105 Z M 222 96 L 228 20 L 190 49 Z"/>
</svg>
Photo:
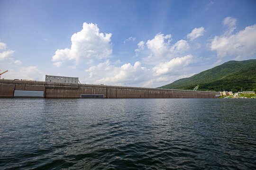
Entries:
<svg viewBox="0 0 256 170">
<path fill-rule="evenodd" d="M 158 87 L 256 59 L 255 0 L 0 0 L 1 78 Z"/>
</svg>

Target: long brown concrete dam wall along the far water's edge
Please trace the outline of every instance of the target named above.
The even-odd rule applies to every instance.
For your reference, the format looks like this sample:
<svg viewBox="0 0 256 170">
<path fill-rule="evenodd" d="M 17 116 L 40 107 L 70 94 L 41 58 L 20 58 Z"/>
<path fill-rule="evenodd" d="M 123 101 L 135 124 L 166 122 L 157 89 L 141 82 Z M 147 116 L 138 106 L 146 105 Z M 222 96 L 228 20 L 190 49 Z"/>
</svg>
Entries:
<svg viewBox="0 0 256 170">
<path fill-rule="evenodd" d="M 0 79 L 0 97 L 217 98 L 219 92 Z"/>
</svg>

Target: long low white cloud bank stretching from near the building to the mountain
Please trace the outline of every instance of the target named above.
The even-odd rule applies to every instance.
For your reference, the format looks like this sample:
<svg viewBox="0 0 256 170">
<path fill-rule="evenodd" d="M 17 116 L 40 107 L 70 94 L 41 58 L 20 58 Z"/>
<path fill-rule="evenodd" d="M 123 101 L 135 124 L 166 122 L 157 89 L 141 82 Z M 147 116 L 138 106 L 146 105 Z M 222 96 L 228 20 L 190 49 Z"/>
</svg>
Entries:
<svg viewBox="0 0 256 170">
<path fill-rule="evenodd" d="M 117 67 L 108 59 L 86 69 L 89 76 L 84 80 L 92 84 L 157 87 L 177 80 L 179 76 L 191 75 L 186 67 L 193 62 L 195 59 L 191 54 L 159 63 L 154 68 L 143 67 L 139 61 Z"/>
</svg>

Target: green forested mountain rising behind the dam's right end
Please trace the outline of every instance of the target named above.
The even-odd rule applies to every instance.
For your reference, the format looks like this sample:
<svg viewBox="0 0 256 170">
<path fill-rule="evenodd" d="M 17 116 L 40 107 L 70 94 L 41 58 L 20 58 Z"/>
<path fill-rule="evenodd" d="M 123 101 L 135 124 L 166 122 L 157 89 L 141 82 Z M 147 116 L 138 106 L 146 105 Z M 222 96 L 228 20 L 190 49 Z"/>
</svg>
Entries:
<svg viewBox="0 0 256 170">
<path fill-rule="evenodd" d="M 256 90 L 256 59 L 228 61 L 158 88 L 193 90 L 196 85 L 202 91 L 237 92 L 241 88 L 243 91 Z"/>
</svg>

